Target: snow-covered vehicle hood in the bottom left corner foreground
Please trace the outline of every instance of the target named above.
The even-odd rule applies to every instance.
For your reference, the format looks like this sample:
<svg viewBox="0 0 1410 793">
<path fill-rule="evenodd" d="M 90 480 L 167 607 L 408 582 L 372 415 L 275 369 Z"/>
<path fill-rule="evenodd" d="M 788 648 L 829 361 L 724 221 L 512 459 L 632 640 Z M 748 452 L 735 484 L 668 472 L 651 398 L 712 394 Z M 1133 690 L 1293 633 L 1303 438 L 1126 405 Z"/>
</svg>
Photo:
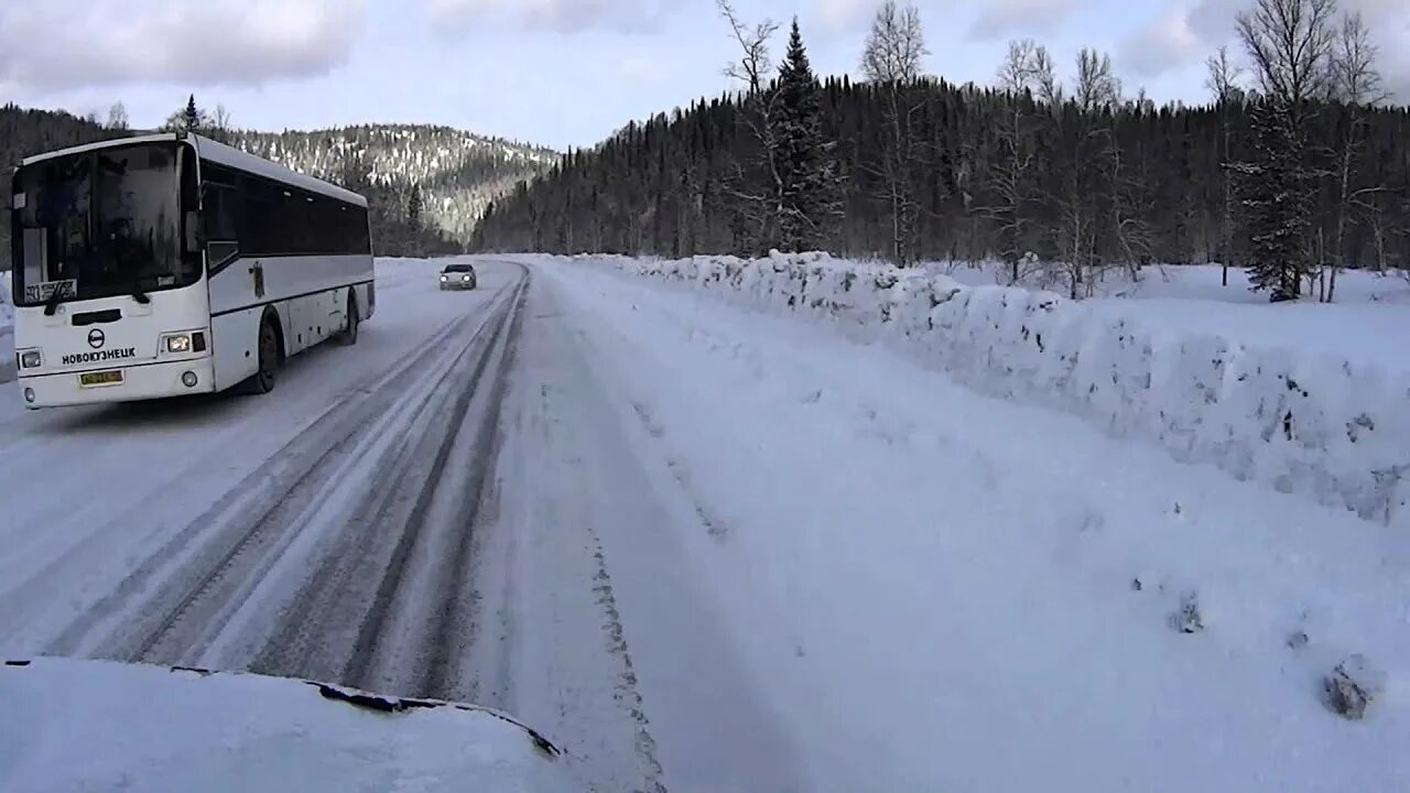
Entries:
<svg viewBox="0 0 1410 793">
<path fill-rule="evenodd" d="M 331 686 L 94 660 L 0 666 L 0 790 L 568 792 L 499 713 Z"/>
</svg>

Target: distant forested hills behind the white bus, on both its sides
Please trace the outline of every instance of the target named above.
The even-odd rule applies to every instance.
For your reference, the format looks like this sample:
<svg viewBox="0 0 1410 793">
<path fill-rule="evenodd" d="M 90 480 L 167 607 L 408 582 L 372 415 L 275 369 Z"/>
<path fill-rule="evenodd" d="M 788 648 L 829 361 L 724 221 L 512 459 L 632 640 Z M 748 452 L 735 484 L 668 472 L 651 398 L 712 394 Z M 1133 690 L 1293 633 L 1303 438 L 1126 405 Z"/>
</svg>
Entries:
<svg viewBox="0 0 1410 793">
<path fill-rule="evenodd" d="M 546 171 L 557 154 L 532 145 L 431 126 L 361 126 L 337 130 L 255 133 L 220 130 L 197 111 L 197 131 L 365 193 L 372 203 L 379 254 L 458 251 L 484 207 L 523 179 Z M 180 114 L 173 116 L 180 123 Z M 68 113 L 0 107 L 0 162 L 133 134 Z M 0 171 L 0 195 L 10 176 Z M 8 213 L 6 213 L 8 217 Z M 8 268 L 10 223 L 0 222 L 0 270 Z"/>
</svg>

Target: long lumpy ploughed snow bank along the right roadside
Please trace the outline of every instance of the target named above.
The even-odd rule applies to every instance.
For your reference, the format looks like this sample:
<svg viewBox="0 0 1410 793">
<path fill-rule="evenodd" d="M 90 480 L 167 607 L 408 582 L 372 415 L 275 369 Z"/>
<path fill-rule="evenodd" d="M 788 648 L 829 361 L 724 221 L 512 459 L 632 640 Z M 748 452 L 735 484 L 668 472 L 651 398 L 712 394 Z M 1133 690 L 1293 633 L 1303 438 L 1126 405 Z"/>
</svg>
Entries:
<svg viewBox="0 0 1410 793">
<path fill-rule="evenodd" d="M 836 326 L 983 392 L 1159 440 L 1177 460 L 1410 528 L 1410 371 L 1144 326 L 1052 292 L 826 254 L 599 260 Z"/>
</svg>

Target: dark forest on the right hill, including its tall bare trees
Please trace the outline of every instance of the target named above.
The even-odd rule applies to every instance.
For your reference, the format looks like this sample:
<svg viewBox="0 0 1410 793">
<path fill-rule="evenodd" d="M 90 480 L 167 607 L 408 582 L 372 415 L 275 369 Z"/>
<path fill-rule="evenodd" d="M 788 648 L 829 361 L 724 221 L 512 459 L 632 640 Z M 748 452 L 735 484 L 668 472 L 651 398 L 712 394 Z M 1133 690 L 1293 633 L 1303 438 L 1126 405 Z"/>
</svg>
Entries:
<svg viewBox="0 0 1410 793">
<path fill-rule="evenodd" d="M 894 0 L 864 78 L 819 80 L 797 23 L 774 69 L 781 31 L 718 4 L 739 92 L 568 152 L 496 202 L 472 247 L 1001 261 L 1074 296 L 1104 268 L 1153 262 L 1262 268 L 1273 299 L 1342 267 L 1410 264 L 1410 113 L 1385 103 L 1365 25 L 1332 0 L 1251 1 L 1245 51 L 1210 58 L 1198 107 L 1124 95 L 1087 49 L 1063 80 L 1034 41 L 1010 45 L 993 87 L 925 76 L 919 17 Z M 1280 30 L 1286 10 L 1310 23 Z M 801 213 L 798 185 L 815 195 Z"/>
</svg>

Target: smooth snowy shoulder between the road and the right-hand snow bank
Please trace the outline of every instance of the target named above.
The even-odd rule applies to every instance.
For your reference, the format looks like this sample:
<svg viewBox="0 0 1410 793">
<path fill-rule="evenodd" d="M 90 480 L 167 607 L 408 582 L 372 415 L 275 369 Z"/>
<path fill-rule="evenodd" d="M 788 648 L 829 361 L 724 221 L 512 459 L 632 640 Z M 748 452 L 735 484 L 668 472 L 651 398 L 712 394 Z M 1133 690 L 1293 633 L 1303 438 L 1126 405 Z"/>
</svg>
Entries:
<svg viewBox="0 0 1410 793">
<path fill-rule="evenodd" d="M 1404 532 L 615 270 L 536 277 L 695 509 L 689 557 L 801 789 L 1410 780 Z M 1400 682 L 1356 724 L 1321 696 L 1354 653 Z M 643 672 L 647 713 L 670 680 Z"/>
</svg>

